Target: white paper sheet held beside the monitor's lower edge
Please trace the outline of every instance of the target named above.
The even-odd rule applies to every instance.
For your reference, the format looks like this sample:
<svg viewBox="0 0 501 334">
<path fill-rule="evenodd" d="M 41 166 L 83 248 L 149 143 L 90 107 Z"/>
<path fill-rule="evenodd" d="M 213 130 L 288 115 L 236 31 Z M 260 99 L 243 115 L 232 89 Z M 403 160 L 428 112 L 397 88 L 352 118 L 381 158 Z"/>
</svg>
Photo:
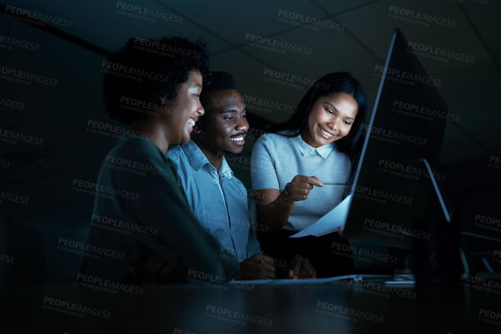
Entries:
<svg viewBox="0 0 501 334">
<path fill-rule="evenodd" d="M 301 238 L 309 235 L 320 237 L 325 234 L 337 232 L 340 227 L 342 231 L 344 229 L 346 217 L 348 216 L 348 205 L 350 203 L 351 196 L 352 195 L 349 195 L 345 198 L 334 209 L 325 214 L 324 217 L 320 218 L 306 229 L 291 235 L 289 238 Z"/>
</svg>

